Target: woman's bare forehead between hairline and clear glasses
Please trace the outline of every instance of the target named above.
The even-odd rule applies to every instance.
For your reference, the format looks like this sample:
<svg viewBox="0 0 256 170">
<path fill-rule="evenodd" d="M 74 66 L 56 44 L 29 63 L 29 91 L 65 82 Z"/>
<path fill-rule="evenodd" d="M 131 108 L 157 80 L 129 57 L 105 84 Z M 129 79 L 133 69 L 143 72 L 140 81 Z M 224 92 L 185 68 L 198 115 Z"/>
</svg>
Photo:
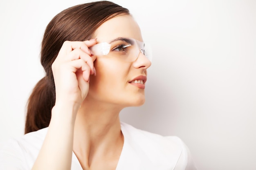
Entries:
<svg viewBox="0 0 256 170">
<path fill-rule="evenodd" d="M 117 15 L 101 24 L 95 31 L 97 42 L 106 42 L 120 37 L 143 41 L 139 25 L 131 15 Z"/>
</svg>

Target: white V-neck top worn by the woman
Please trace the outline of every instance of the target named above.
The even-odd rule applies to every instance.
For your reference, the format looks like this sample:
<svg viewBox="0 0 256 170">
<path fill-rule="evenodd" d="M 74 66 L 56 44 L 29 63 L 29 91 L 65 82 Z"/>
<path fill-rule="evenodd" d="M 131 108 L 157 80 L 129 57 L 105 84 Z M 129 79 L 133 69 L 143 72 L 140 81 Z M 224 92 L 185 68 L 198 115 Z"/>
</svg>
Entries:
<svg viewBox="0 0 256 170">
<path fill-rule="evenodd" d="M 48 128 L 10 139 L 0 149 L 0 170 L 31 170 Z M 188 148 L 175 136 L 163 137 L 121 122 L 124 146 L 116 170 L 196 170 Z M 61 141 L 60 141 L 61 142 Z M 73 152 L 71 170 L 83 170 Z"/>
</svg>

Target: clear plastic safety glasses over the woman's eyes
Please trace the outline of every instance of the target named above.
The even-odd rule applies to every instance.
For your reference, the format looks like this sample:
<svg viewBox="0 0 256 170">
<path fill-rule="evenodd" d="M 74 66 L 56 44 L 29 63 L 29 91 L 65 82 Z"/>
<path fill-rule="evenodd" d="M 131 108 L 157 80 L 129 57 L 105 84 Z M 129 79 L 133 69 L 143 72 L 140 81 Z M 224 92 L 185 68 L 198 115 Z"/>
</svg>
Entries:
<svg viewBox="0 0 256 170">
<path fill-rule="evenodd" d="M 135 61 L 141 52 L 150 62 L 152 61 L 150 46 L 133 38 L 117 38 L 108 42 L 101 42 L 90 47 L 90 50 L 94 55 L 118 57 L 128 62 Z"/>
</svg>

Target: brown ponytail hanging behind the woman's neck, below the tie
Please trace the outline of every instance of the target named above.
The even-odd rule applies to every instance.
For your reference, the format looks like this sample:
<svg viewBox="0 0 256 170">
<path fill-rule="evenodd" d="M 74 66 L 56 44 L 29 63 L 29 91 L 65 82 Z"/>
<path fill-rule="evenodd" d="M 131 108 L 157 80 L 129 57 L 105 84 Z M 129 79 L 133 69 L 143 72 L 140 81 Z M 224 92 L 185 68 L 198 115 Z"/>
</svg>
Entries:
<svg viewBox="0 0 256 170">
<path fill-rule="evenodd" d="M 25 134 L 49 126 L 55 97 L 48 81 L 47 76 L 40 79 L 28 99 Z"/>
</svg>

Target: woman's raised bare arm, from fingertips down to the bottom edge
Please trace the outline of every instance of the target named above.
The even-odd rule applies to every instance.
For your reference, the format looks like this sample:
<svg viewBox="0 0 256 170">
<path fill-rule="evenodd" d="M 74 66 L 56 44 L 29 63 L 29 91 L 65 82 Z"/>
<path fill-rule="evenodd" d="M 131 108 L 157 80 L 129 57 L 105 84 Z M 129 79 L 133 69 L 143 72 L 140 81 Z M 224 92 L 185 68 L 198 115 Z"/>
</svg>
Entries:
<svg viewBox="0 0 256 170">
<path fill-rule="evenodd" d="M 56 103 L 47 135 L 32 170 L 70 170 L 74 122 L 81 102 L 89 89 L 89 76 L 94 73 L 88 47 L 96 40 L 65 42 L 52 64 Z"/>
</svg>

